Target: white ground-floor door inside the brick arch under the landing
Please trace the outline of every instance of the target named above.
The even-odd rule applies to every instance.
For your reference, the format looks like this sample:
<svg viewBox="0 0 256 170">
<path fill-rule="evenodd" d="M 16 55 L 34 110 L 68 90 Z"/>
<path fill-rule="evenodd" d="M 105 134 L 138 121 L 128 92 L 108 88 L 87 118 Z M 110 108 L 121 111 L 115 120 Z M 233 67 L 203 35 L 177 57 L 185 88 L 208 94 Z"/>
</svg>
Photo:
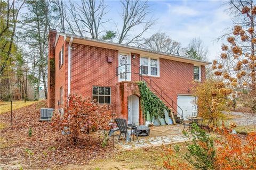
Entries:
<svg viewBox="0 0 256 170">
<path fill-rule="evenodd" d="M 131 95 L 128 97 L 128 124 L 139 125 L 139 97 Z"/>
</svg>

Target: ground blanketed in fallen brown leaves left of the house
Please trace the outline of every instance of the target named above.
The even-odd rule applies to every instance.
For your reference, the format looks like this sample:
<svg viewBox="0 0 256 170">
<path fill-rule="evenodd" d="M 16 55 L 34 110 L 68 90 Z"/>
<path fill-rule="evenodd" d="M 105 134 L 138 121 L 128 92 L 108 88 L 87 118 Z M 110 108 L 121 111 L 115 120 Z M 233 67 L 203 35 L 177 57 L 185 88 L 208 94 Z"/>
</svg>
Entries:
<svg viewBox="0 0 256 170">
<path fill-rule="evenodd" d="M 14 111 L 12 129 L 10 112 L 0 115 L 0 122 L 5 125 L 5 128 L 0 131 L 1 165 L 8 165 L 15 159 L 25 169 L 52 168 L 67 164 L 82 165 L 92 159 L 113 155 L 111 145 L 101 147 L 100 133 L 83 134 L 74 146 L 66 135 L 62 135 L 60 131 L 54 131 L 50 122 L 39 122 L 39 110 L 45 106 L 44 100 Z M 28 136 L 30 127 L 32 137 Z M 26 149 L 33 152 L 31 166 Z"/>
</svg>

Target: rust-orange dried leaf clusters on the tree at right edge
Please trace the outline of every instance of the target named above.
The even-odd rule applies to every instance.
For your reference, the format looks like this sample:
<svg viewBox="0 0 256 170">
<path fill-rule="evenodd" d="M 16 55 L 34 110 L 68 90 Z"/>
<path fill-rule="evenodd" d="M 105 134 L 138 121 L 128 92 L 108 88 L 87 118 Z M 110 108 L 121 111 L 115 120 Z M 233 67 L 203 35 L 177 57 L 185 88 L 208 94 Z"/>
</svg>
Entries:
<svg viewBox="0 0 256 170">
<path fill-rule="evenodd" d="M 256 15 L 256 7 L 244 6 L 241 10 L 246 14 L 248 20 Z M 255 67 L 256 56 L 254 55 L 254 45 L 256 45 L 254 25 L 251 27 L 242 27 L 235 25 L 233 35 L 227 37 L 228 44 L 221 46 L 222 53 L 220 61 L 213 61 L 212 69 L 214 74 L 221 76 L 233 87 L 237 87 L 237 81 L 240 85 L 250 83 L 250 87 L 255 91 Z M 252 81 L 250 81 L 250 78 Z"/>
</svg>

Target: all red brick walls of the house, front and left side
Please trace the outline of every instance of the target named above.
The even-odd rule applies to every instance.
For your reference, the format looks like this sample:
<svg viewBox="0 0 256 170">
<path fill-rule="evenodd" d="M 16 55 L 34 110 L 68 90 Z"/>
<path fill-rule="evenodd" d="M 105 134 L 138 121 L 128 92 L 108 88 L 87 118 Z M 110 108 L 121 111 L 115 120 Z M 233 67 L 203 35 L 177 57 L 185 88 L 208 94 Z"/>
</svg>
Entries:
<svg viewBox="0 0 256 170">
<path fill-rule="evenodd" d="M 60 87 L 63 87 L 63 100 L 67 104 L 68 84 L 68 42 L 65 43 L 64 64 L 59 69 L 59 51 L 63 45 L 63 37 L 59 38 L 55 48 L 55 107 L 60 99 Z M 73 43 L 71 50 L 71 83 L 70 92 L 81 94 L 83 97 L 92 97 L 93 86 L 111 87 L 111 105 L 117 117 L 127 118 L 127 96 L 134 94 L 129 83 L 118 83 L 116 67 L 118 66 L 118 50 L 93 47 Z M 135 55 L 133 59 L 132 55 Z M 107 57 L 112 57 L 113 62 L 108 63 Z M 131 54 L 131 64 L 140 64 L 140 55 Z M 182 63 L 160 58 L 160 77 L 151 77 L 157 85 L 177 103 L 177 94 L 188 94 L 193 87 L 193 64 Z M 138 73 L 138 66 L 131 70 Z M 202 80 L 205 77 L 205 67 L 201 66 Z M 148 78 L 145 77 L 146 80 Z M 132 81 L 138 81 L 139 75 L 132 74 Z M 127 88 L 124 90 L 125 88 Z M 130 91 L 129 91 L 130 89 Z M 138 94 L 135 94 L 138 95 Z M 140 116 L 140 123 L 142 123 Z"/>
</svg>

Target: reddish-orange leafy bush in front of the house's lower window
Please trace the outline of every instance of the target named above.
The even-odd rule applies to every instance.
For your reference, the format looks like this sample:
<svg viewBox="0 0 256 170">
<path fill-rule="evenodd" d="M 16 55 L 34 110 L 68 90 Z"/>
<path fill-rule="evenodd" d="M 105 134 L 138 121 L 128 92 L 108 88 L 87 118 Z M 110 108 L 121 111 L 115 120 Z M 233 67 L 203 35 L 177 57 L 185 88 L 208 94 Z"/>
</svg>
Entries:
<svg viewBox="0 0 256 170">
<path fill-rule="evenodd" d="M 56 130 L 68 130 L 68 135 L 76 145 L 77 140 L 83 134 L 98 129 L 108 129 L 112 118 L 112 111 L 108 105 L 100 105 L 90 97 L 81 95 L 69 95 L 68 105 L 63 116 L 56 113 L 52 117 L 51 125 Z"/>
</svg>

